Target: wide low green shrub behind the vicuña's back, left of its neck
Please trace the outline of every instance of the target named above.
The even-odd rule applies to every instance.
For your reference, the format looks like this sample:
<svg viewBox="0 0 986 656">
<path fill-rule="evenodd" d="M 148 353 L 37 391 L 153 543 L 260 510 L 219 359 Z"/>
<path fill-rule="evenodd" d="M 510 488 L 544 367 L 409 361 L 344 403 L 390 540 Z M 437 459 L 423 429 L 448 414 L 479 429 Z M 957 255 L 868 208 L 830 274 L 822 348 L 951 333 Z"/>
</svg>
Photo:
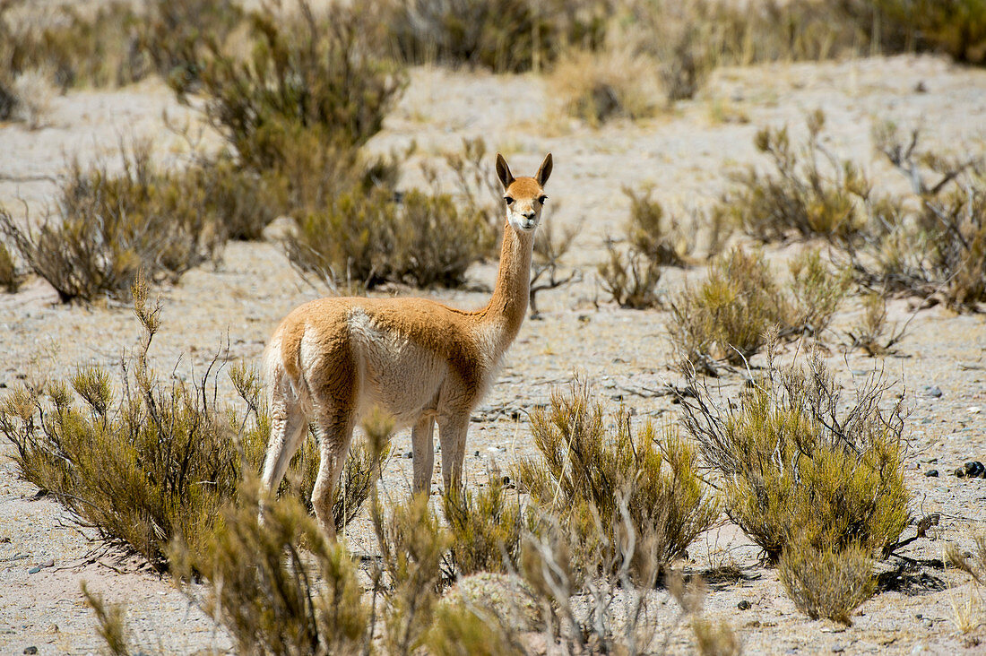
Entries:
<svg viewBox="0 0 986 656">
<path fill-rule="evenodd" d="M 296 223 L 285 247 L 302 273 L 333 286 L 455 286 L 489 253 L 491 234 L 482 213 L 460 212 L 450 195 L 414 189 L 398 202 L 377 189 L 331 199 Z"/>
</svg>

